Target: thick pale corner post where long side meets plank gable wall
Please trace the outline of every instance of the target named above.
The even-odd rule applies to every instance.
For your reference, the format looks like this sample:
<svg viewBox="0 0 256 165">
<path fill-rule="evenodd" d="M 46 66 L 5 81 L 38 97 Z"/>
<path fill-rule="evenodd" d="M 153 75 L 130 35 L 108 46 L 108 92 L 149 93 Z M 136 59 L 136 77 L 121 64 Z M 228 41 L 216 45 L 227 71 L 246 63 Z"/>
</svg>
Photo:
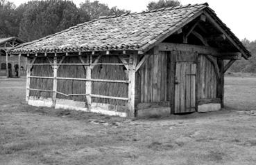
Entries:
<svg viewBox="0 0 256 165">
<path fill-rule="evenodd" d="M 129 57 L 129 81 L 130 84 L 128 85 L 128 117 L 136 117 L 135 115 L 135 72 L 137 66 L 137 56 L 130 55 Z"/>
</svg>

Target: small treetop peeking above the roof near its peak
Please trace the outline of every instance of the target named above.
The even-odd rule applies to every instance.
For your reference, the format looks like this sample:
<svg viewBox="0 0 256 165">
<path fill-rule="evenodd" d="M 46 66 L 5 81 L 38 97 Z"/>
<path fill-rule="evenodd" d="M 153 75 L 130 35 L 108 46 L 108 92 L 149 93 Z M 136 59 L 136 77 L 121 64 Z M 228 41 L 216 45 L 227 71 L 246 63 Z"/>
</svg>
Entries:
<svg viewBox="0 0 256 165">
<path fill-rule="evenodd" d="M 180 1 L 177 0 L 159 0 L 157 2 L 151 1 L 148 3 L 146 6 L 148 10 L 154 10 L 157 8 L 167 8 L 167 7 L 175 7 L 175 6 L 180 6 Z"/>
</svg>

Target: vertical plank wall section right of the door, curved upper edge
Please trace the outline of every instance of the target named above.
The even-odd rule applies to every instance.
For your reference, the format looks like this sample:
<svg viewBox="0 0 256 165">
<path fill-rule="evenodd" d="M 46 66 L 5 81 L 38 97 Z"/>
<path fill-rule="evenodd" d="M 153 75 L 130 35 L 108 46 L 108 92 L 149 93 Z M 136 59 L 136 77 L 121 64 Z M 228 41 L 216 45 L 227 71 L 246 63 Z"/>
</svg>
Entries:
<svg viewBox="0 0 256 165">
<path fill-rule="evenodd" d="M 198 99 L 216 98 L 217 79 L 214 66 L 204 56 L 198 55 Z"/>
</svg>

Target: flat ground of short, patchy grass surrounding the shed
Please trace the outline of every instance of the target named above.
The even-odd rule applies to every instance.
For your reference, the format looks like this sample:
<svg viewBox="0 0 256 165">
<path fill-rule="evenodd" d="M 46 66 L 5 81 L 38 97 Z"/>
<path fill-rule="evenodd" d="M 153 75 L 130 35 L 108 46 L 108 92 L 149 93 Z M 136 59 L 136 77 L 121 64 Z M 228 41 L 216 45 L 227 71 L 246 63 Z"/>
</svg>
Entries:
<svg viewBox="0 0 256 165">
<path fill-rule="evenodd" d="M 213 113 L 124 119 L 26 105 L 0 79 L 0 164 L 256 164 L 256 78 L 226 77 Z"/>
</svg>

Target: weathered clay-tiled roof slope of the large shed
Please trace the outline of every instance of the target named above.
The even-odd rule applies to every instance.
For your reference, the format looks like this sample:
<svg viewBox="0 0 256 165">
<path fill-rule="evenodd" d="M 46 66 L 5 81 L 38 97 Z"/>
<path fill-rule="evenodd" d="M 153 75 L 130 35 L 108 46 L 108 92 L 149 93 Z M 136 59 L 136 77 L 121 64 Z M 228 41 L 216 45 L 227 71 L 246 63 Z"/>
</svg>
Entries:
<svg viewBox="0 0 256 165">
<path fill-rule="evenodd" d="M 24 43 L 11 52 L 143 51 L 185 26 L 207 6 L 207 3 L 203 3 L 123 14 L 119 17 L 101 17 Z"/>
</svg>

